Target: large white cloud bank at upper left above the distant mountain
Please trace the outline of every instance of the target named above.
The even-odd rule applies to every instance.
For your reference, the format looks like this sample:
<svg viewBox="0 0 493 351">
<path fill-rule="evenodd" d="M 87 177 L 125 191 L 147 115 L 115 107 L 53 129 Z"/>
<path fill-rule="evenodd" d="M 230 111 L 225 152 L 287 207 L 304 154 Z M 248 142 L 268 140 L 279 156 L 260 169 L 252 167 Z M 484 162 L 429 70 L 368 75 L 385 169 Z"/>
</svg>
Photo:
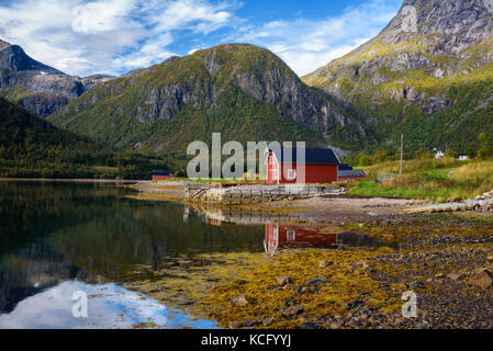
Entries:
<svg viewBox="0 0 493 351">
<path fill-rule="evenodd" d="M 1 38 L 70 75 L 117 73 L 175 55 L 176 31 L 228 25 L 231 3 L 205 0 L 18 0 L 0 4 Z"/>
</svg>

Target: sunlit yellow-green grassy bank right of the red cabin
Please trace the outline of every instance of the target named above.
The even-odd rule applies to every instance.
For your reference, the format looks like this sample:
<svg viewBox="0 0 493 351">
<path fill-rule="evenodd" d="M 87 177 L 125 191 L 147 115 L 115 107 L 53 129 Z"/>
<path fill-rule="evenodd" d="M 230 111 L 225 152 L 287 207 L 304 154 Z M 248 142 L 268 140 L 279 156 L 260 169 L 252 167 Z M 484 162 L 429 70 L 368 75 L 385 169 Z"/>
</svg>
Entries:
<svg viewBox="0 0 493 351">
<path fill-rule="evenodd" d="M 367 168 L 368 178 L 349 185 L 349 193 L 366 196 L 429 199 L 438 202 L 473 199 L 493 189 L 493 160 L 452 158 L 389 161 Z M 382 174 L 395 177 L 377 183 Z"/>
</svg>

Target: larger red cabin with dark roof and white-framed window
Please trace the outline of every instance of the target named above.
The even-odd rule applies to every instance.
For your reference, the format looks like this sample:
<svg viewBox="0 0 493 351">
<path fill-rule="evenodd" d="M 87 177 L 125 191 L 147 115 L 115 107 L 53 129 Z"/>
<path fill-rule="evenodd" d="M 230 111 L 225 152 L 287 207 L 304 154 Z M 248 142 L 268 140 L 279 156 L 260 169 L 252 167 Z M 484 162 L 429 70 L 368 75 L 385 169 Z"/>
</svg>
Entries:
<svg viewBox="0 0 493 351">
<path fill-rule="evenodd" d="M 269 184 L 328 184 L 338 181 L 339 158 L 332 149 L 305 149 L 303 160 L 296 160 L 296 149 L 268 149 L 267 182 Z M 305 169 L 304 182 L 299 179 L 300 168 Z"/>
</svg>

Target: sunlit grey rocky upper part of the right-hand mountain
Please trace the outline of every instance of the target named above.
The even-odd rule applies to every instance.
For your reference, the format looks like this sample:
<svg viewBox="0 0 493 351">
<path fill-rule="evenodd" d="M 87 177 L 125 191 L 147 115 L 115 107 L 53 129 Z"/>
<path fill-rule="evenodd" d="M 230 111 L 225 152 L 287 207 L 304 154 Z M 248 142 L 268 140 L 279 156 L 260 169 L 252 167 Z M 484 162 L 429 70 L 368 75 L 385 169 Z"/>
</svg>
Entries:
<svg viewBox="0 0 493 351">
<path fill-rule="evenodd" d="M 493 63 L 492 44 L 493 0 L 404 0 L 377 37 L 303 80 L 343 98 L 330 83 L 355 72 L 352 80 L 366 77 L 373 86 L 390 80 L 385 67 L 428 69 L 441 79 Z"/>
</svg>

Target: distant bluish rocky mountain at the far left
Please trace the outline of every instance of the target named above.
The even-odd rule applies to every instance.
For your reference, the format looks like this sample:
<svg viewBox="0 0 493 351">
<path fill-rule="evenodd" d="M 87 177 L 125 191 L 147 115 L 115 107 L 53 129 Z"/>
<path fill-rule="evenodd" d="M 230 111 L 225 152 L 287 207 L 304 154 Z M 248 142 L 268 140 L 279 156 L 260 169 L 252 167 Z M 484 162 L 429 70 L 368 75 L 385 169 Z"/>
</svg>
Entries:
<svg viewBox="0 0 493 351">
<path fill-rule="evenodd" d="M 0 41 L 0 95 L 47 117 L 111 76 L 71 77 Z"/>
</svg>

